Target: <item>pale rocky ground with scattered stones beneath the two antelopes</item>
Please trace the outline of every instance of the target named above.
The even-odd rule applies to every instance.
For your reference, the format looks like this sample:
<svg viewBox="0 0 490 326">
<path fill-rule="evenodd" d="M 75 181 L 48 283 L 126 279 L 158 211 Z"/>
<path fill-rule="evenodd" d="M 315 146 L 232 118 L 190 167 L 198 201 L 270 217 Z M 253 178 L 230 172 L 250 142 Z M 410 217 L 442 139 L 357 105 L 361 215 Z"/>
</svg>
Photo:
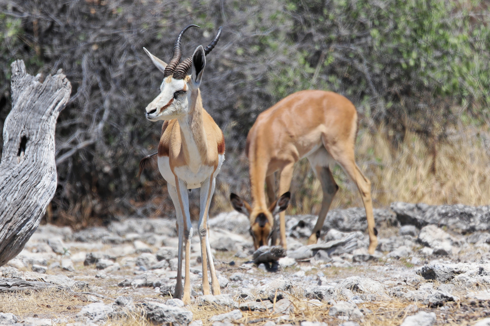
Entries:
<svg viewBox="0 0 490 326">
<path fill-rule="evenodd" d="M 330 212 L 312 246 L 304 243 L 316 217 L 288 217 L 287 257 L 276 266 L 251 261 L 245 216 L 210 219 L 222 295 L 202 296 L 195 236 L 190 305 L 172 299 L 175 221 L 128 218 L 78 232 L 42 225 L 0 267 L 0 326 L 490 326 L 488 207 L 375 210 L 374 255 L 363 211 Z"/>
</svg>

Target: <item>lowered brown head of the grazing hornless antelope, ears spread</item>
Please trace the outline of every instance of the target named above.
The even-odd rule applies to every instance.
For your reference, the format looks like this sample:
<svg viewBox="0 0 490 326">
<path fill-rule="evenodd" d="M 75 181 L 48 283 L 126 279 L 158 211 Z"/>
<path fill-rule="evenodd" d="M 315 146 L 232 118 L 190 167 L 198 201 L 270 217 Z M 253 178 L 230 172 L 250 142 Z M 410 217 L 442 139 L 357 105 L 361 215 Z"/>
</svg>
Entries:
<svg viewBox="0 0 490 326">
<path fill-rule="evenodd" d="M 235 194 L 230 195 L 233 208 L 248 216 L 250 220 L 250 235 L 253 238 L 255 249 L 263 245 L 269 245 L 272 233 L 276 231 L 277 225 L 274 225 L 274 217 L 288 207 L 291 193 L 288 191 L 273 202 L 268 210 L 251 207 L 245 200 L 242 200 Z M 272 243 L 275 245 L 275 243 Z"/>
</svg>

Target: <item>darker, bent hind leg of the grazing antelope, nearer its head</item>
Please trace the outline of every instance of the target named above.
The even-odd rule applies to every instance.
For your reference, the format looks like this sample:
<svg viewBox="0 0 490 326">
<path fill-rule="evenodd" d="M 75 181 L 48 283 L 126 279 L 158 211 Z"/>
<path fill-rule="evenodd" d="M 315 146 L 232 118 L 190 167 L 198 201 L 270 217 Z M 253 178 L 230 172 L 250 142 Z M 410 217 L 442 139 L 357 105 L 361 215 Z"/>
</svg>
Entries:
<svg viewBox="0 0 490 326">
<path fill-rule="evenodd" d="M 328 210 L 330 209 L 330 204 L 332 204 L 332 200 L 339 190 L 339 186 L 335 182 L 334 176 L 328 166 L 312 165 L 312 168 L 320 181 L 323 198 L 321 200 L 321 209 L 320 214 L 318 215 L 317 224 L 308 239 L 308 244 L 317 243 L 318 238 L 320 237 L 321 228 L 325 222 L 325 217 L 327 217 Z"/>
</svg>

